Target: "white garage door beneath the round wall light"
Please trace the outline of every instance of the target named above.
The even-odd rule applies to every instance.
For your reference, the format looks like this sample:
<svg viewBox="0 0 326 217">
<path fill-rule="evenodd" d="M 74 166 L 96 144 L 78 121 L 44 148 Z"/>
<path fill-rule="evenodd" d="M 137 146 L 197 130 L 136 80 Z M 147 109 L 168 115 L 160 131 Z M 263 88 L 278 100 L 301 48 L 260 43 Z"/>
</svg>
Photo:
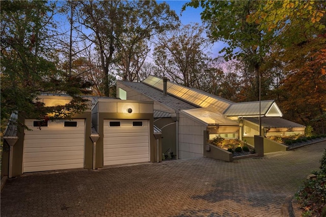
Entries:
<svg viewBox="0 0 326 217">
<path fill-rule="evenodd" d="M 149 160 L 148 120 L 104 120 L 103 165 Z"/>
</svg>

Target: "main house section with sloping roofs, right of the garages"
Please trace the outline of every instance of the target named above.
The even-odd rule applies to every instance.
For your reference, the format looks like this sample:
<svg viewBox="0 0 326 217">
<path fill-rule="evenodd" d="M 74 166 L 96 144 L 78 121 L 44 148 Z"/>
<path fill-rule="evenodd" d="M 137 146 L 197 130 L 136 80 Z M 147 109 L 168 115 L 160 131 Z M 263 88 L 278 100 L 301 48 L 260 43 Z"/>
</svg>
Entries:
<svg viewBox="0 0 326 217">
<path fill-rule="evenodd" d="M 181 159 L 204 155 L 204 131 L 209 132 L 209 139 L 220 136 L 254 145 L 254 135 L 260 133 L 266 138 L 287 137 L 305 130 L 303 125 L 282 119 L 274 100 L 235 103 L 151 75 L 142 83 L 117 81 L 117 96 L 154 101 L 162 152 L 171 150 Z"/>
</svg>

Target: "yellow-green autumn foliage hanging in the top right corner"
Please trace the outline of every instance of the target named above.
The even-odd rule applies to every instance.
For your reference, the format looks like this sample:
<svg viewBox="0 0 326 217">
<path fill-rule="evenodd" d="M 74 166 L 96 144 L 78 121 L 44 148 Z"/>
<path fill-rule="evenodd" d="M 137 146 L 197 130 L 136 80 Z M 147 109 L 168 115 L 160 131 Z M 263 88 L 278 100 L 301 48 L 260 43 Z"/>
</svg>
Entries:
<svg viewBox="0 0 326 217">
<path fill-rule="evenodd" d="M 277 44 L 287 47 L 324 32 L 325 13 L 324 1 L 259 1 L 257 10 L 247 16 L 247 22 L 258 24 L 264 33 L 273 32 Z"/>
</svg>

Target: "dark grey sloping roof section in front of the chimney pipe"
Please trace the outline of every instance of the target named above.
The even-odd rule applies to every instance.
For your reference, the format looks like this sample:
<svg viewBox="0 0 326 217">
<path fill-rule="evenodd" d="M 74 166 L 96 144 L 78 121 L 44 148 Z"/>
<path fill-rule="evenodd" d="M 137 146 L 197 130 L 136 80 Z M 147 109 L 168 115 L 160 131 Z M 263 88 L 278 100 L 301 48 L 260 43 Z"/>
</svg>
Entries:
<svg viewBox="0 0 326 217">
<path fill-rule="evenodd" d="M 188 110 L 193 108 L 198 108 L 199 106 L 193 105 L 191 103 L 185 102 L 181 99 L 178 99 L 171 95 L 164 95 L 162 91 L 157 90 L 149 85 L 144 83 L 135 83 L 135 82 L 125 82 L 120 81 L 122 84 L 137 90 L 138 92 L 148 96 L 149 98 L 162 103 L 168 107 L 170 107 L 174 111 L 179 110 Z"/>
</svg>

